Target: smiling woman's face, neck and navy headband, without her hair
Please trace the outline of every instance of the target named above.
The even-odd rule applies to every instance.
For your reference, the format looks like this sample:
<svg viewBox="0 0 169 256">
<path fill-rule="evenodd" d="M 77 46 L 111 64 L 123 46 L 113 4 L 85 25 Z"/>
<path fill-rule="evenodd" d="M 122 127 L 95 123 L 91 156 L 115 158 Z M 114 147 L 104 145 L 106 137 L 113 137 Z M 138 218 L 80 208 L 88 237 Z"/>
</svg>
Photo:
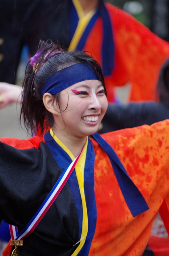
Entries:
<svg viewBox="0 0 169 256">
<path fill-rule="evenodd" d="M 54 101 L 56 93 L 59 93 L 59 100 Z M 94 69 L 81 62 L 50 76 L 42 87 L 42 94 L 43 104 L 54 118 L 53 132 L 77 156 L 86 136 L 98 131 L 107 110 L 104 85 Z M 78 147 L 75 147 L 73 142 L 77 138 Z"/>
</svg>

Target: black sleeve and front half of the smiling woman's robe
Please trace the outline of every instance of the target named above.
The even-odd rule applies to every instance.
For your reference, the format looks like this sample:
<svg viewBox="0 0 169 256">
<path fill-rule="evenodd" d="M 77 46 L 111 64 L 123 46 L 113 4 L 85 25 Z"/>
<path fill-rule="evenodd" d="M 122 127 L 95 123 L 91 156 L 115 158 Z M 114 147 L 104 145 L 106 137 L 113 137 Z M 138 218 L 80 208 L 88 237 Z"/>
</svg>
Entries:
<svg viewBox="0 0 169 256">
<path fill-rule="evenodd" d="M 17 149 L 0 142 L 1 218 L 21 232 L 61 174 L 45 143 L 38 148 Z M 24 239 L 20 254 L 72 255 L 78 233 L 76 203 L 66 183 L 38 226 Z"/>
</svg>

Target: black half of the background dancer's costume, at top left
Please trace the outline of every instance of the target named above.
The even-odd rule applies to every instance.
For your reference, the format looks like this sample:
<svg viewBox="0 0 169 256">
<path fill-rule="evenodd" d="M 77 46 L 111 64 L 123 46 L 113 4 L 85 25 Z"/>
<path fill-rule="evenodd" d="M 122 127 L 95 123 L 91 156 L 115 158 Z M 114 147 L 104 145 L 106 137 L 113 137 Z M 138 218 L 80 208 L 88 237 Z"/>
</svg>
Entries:
<svg viewBox="0 0 169 256">
<path fill-rule="evenodd" d="M 24 45 L 30 53 L 39 40 L 60 43 L 68 48 L 69 0 L 1 0 L 0 1 L 0 82 L 15 83 Z M 61 15 L 62 14 L 62 15 Z"/>
</svg>

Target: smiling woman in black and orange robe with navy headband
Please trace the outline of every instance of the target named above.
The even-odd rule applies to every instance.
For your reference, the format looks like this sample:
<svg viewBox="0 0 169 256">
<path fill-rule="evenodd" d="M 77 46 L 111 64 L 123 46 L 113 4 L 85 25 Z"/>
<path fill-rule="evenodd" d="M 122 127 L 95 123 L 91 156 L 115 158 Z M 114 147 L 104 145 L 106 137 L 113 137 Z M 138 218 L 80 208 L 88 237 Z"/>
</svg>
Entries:
<svg viewBox="0 0 169 256">
<path fill-rule="evenodd" d="M 143 255 L 158 210 L 169 215 L 169 122 L 100 136 L 106 109 L 97 61 L 40 42 L 20 116 L 38 136 L 0 139 L 3 255 Z"/>
</svg>

